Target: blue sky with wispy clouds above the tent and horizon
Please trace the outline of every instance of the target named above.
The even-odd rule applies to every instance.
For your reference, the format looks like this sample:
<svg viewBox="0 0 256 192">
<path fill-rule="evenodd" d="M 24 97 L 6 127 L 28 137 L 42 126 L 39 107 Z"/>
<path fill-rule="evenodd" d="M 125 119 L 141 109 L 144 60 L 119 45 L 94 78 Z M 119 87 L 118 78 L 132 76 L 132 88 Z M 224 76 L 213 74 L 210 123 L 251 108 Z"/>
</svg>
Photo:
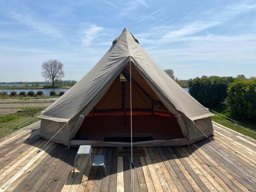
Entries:
<svg viewBox="0 0 256 192">
<path fill-rule="evenodd" d="M 255 0 L 0 0 L 0 81 L 42 81 L 48 59 L 79 80 L 123 28 L 178 78 L 256 75 Z"/>
</svg>

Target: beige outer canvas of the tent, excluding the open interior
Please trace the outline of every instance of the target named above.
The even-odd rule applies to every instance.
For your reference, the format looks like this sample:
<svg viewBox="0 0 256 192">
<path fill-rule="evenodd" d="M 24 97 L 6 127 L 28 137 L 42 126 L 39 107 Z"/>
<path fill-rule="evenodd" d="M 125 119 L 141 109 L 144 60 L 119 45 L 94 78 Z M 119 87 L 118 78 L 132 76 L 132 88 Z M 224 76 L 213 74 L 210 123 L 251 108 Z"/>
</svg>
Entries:
<svg viewBox="0 0 256 192">
<path fill-rule="evenodd" d="M 158 97 L 170 113 L 177 115 L 185 138 L 196 140 L 204 136 L 202 132 L 194 129 L 192 121 L 203 126 L 207 135 L 213 132 L 210 121 L 213 114 L 166 75 L 146 54 L 137 39 L 124 29 L 92 70 L 41 113 L 39 135 L 51 138 L 63 123 L 68 122 L 69 128 L 66 132 L 61 132 L 54 140 L 69 145 L 83 122 L 79 115 L 86 116 L 95 105 L 100 104 L 100 99 L 130 61 L 132 77 L 140 82 L 143 79 L 143 88 L 153 90 L 152 96 Z"/>
</svg>

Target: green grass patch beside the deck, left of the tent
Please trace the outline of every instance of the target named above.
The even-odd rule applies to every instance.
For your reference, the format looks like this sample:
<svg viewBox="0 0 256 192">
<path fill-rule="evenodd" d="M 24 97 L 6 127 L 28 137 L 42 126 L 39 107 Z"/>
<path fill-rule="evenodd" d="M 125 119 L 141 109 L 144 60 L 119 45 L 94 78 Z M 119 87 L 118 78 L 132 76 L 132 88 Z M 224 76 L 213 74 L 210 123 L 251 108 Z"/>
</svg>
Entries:
<svg viewBox="0 0 256 192">
<path fill-rule="evenodd" d="M 34 117 L 44 109 L 46 109 L 44 106 L 22 108 L 22 110 L 17 113 L 0 116 L 0 138 L 38 121 L 39 119 Z M 26 123 L 29 119 L 33 120 Z M 24 123 L 26 124 L 21 123 L 23 121 L 25 121 Z M 21 123 L 20 126 L 18 126 L 19 123 Z"/>
</svg>

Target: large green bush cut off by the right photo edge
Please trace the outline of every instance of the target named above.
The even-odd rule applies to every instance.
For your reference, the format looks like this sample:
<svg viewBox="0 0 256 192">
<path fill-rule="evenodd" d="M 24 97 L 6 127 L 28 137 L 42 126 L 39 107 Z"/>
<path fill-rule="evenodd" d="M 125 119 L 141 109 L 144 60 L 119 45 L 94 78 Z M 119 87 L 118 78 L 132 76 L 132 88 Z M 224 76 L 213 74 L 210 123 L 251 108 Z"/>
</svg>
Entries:
<svg viewBox="0 0 256 192">
<path fill-rule="evenodd" d="M 230 113 L 239 119 L 256 119 L 256 80 L 237 80 L 229 84 Z"/>
</svg>

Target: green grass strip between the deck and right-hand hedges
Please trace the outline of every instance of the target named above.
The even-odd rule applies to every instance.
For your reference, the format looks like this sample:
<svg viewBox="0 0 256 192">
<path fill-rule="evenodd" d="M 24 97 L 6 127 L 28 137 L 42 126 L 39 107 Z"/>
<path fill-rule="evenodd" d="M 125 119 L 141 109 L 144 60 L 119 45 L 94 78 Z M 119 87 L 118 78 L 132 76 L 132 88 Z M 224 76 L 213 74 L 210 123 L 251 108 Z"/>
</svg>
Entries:
<svg viewBox="0 0 256 192">
<path fill-rule="evenodd" d="M 238 118 L 231 117 L 229 115 L 228 108 L 226 108 L 225 106 L 217 106 L 216 108 L 214 108 L 214 110 L 222 115 L 225 115 L 226 117 L 236 120 L 242 126 L 244 126 L 246 129 L 243 129 L 242 127 L 238 126 L 237 124 L 235 124 L 233 122 L 226 121 L 217 115 L 211 117 L 213 121 L 215 121 L 219 124 L 222 124 L 231 130 L 234 130 L 243 135 L 246 135 L 248 137 L 256 139 L 256 121 L 255 120 L 253 120 L 253 119 L 238 119 Z"/>
</svg>

